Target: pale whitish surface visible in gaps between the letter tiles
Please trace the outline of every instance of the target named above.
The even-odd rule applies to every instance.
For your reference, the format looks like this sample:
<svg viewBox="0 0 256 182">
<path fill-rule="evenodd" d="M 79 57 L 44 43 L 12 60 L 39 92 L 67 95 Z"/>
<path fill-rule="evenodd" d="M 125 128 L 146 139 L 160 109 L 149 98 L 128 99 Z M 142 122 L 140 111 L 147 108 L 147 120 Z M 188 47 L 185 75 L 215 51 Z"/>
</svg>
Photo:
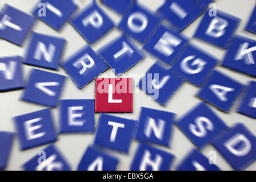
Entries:
<svg viewBox="0 0 256 182">
<path fill-rule="evenodd" d="M 4 3 L 8 3 L 9 5 L 14 6 L 17 9 L 30 14 L 32 7 L 34 7 L 37 2 L 38 1 L 36 0 L 23 0 L 23 1 L 1 0 L 0 7 L 2 7 Z M 82 7 L 87 6 L 92 1 L 77 0 L 76 2 L 79 2 L 79 10 L 81 10 Z M 141 0 L 141 1 L 139 0 L 138 2 L 144 6 L 147 6 L 152 11 L 155 11 L 156 9 L 158 9 L 159 6 L 163 4 L 164 1 L 163 0 L 157 0 L 157 1 L 156 0 Z M 113 22 L 117 25 L 119 23 L 119 20 L 121 20 L 121 15 L 110 10 L 108 7 L 102 5 L 99 1 L 97 1 L 97 3 L 105 11 L 105 13 L 110 16 Z M 241 24 L 238 28 L 237 34 L 247 36 L 248 38 L 251 38 L 251 39 L 256 39 L 255 34 L 252 34 L 244 30 L 246 23 L 249 20 L 249 16 L 253 11 L 255 0 L 216 0 L 215 3 L 217 5 L 217 9 L 222 10 L 229 14 L 235 15 L 238 18 L 242 19 Z M 185 28 L 185 30 L 182 33 L 187 35 L 188 37 L 192 37 L 197 26 L 200 23 L 201 18 L 202 16 L 197 18 L 195 22 L 189 25 L 189 27 Z M 85 40 L 77 33 L 77 31 L 69 23 L 65 24 L 65 26 L 62 28 L 60 32 L 57 32 L 53 30 L 51 27 L 47 26 L 47 24 L 38 20 L 33 31 L 43 33 L 43 34 L 48 34 L 48 35 L 61 36 L 65 38 L 67 40 L 67 44 L 66 44 L 66 51 L 64 52 L 64 55 L 63 55 L 64 59 L 67 56 L 71 55 L 73 52 L 77 51 L 77 49 L 83 47 L 86 44 Z M 94 49 L 94 51 L 96 51 L 98 48 L 100 48 L 101 46 L 104 46 L 104 44 L 108 43 L 110 40 L 117 37 L 118 35 L 121 35 L 121 31 L 118 30 L 117 28 L 114 28 L 108 34 L 104 35 L 102 39 L 94 43 L 92 45 L 92 48 Z M 29 39 L 30 38 L 27 37 L 27 40 Z M 13 55 L 23 56 L 27 47 L 27 43 L 28 43 L 27 40 L 23 43 L 22 47 L 15 46 L 14 44 L 9 43 L 5 40 L 0 40 L 0 57 L 13 56 Z M 191 42 L 205 49 L 205 51 L 212 53 L 220 61 L 222 60 L 222 57 L 224 56 L 224 53 L 225 53 L 224 49 L 217 48 L 199 39 L 192 38 Z M 137 45 L 139 47 L 142 47 L 139 43 L 137 43 Z M 128 72 L 126 72 L 126 75 L 129 76 L 129 73 L 139 73 L 139 74 L 146 73 L 147 69 L 150 68 L 151 65 L 154 64 L 155 61 L 157 60 L 156 57 L 152 57 L 147 52 L 146 54 L 147 54 L 146 59 L 144 59 L 143 61 L 141 61 L 141 63 L 135 65 L 135 67 L 130 69 Z M 32 67 L 30 65 L 23 65 L 25 80 L 27 80 L 27 77 L 32 68 L 36 68 L 36 67 Z M 37 68 L 37 69 L 43 69 L 43 68 Z M 242 84 L 247 84 L 249 81 L 253 80 L 253 77 L 243 75 L 242 73 L 230 71 L 229 69 L 222 68 L 220 66 L 218 66 L 217 69 L 220 70 L 221 72 L 224 72 L 226 75 L 233 77 L 237 81 L 240 81 Z M 43 69 L 43 70 L 68 76 L 63 71 L 62 68 L 60 68 L 59 71 L 51 71 L 48 69 Z M 105 73 L 110 74 L 112 73 L 112 71 L 109 69 Z M 134 85 L 137 84 L 137 82 L 138 80 L 135 80 Z M 95 81 L 92 81 L 89 85 L 85 86 L 85 88 L 83 88 L 82 90 L 78 90 L 76 86 L 73 84 L 73 82 L 71 81 L 71 79 L 67 78 L 64 85 L 63 93 L 61 94 L 60 99 L 93 99 L 94 84 L 95 84 Z M 139 92 L 139 89 L 134 86 L 134 91 Z M 177 90 L 177 92 L 174 94 L 172 99 L 168 102 L 166 107 L 160 106 L 154 100 L 148 100 L 148 97 L 145 93 L 139 92 L 137 94 L 134 94 L 134 103 L 133 103 L 134 112 L 132 114 L 113 114 L 113 115 L 124 117 L 124 118 L 130 118 L 130 119 L 138 119 L 141 106 L 146 106 L 154 109 L 174 112 L 177 114 L 177 118 L 179 118 L 181 115 L 186 113 L 189 109 L 191 109 L 193 106 L 197 105 L 200 102 L 199 98 L 195 97 L 198 91 L 199 91 L 199 88 L 197 88 L 195 85 L 192 85 L 186 82 L 180 87 L 179 90 Z M 30 104 L 24 101 L 19 101 L 19 98 L 22 92 L 23 90 L 14 90 L 11 92 L 0 93 L 0 114 L 1 114 L 0 130 L 1 131 L 15 131 L 13 117 L 15 117 L 16 115 L 31 113 L 33 111 L 46 108 L 44 106 Z M 256 135 L 255 119 L 236 113 L 235 109 L 237 108 L 237 104 L 233 107 L 230 113 L 223 113 L 222 111 L 217 110 L 212 106 L 210 107 L 219 115 L 221 119 L 223 119 L 223 121 L 225 121 L 226 125 L 232 126 L 236 122 L 242 122 L 251 130 L 252 133 L 254 133 L 254 135 Z M 52 115 L 55 120 L 56 130 L 58 131 L 59 107 L 52 109 Z M 99 114 L 95 114 L 96 129 L 97 129 L 98 117 L 99 117 Z M 59 140 L 55 142 L 55 145 L 63 153 L 65 158 L 68 160 L 69 164 L 71 164 L 72 169 L 76 170 L 77 165 L 79 164 L 80 159 L 86 150 L 86 147 L 89 144 L 93 143 L 93 139 L 94 139 L 93 134 L 60 134 Z M 33 156 L 37 154 L 38 151 L 43 150 L 43 148 L 47 146 L 48 144 L 45 144 L 43 146 L 30 148 L 25 151 L 20 151 L 18 138 L 15 137 L 13 148 L 11 150 L 11 154 L 9 158 L 9 163 L 7 164 L 6 169 L 21 170 L 22 164 L 30 160 Z M 129 170 L 130 164 L 133 160 L 133 156 L 135 154 L 137 146 L 138 146 L 138 142 L 136 140 L 133 140 L 130 147 L 129 154 L 127 155 L 109 150 L 111 154 L 119 158 L 119 164 L 117 167 L 118 170 Z M 181 161 L 181 159 L 184 158 L 185 154 L 187 154 L 187 152 L 194 147 L 191 141 L 187 137 L 185 137 L 185 135 L 181 133 L 181 131 L 177 129 L 176 126 L 174 126 L 170 146 L 171 146 L 170 148 L 162 147 L 162 146 L 157 146 L 157 147 L 162 148 L 165 151 L 171 152 L 176 156 L 176 159 L 174 160 L 174 163 L 172 164 L 171 169 L 174 169 L 176 165 Z M 203 152 L 203 154 L 207 157 L 209 156 L 208 155 L 209 151 L 216 151 L 216 149 L 213 146 L 208 144 L 205 148 L 203 148 L 203 150 L 201 150 L 201 152 Z M 218 152 L 217 152 L 217 166 L 224 170 L 232 170 L 232 167 L 226 162 L 224 158 L 222 158 L 222 156 Z M 256 163 L 254 162 L 253 164 L 251 164 L 251 166 L 246 168 L 246 170 L 256 170 Z"/>
</svg>

